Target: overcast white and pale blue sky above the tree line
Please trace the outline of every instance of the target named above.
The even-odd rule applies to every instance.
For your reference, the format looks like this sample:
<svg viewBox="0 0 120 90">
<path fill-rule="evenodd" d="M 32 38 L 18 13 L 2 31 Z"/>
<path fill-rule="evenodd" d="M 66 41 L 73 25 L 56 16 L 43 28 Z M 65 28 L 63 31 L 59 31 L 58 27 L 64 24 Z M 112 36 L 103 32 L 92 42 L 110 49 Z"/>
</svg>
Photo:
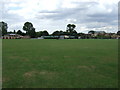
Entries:
<svg viewBox="0 0 120 90">
<path fill-rule="evenodd" d="M 36 31 L 66 31 L 67 24 L 75 30 L 118 31 L 119 0 L 0 0 L 0 21 L 8 31 L 22 30 L 31 22 Z M 2 13 L 1 13 L 2 12 Z M 23 30 L 22 30 L 23 31 Z"/>
</svg>

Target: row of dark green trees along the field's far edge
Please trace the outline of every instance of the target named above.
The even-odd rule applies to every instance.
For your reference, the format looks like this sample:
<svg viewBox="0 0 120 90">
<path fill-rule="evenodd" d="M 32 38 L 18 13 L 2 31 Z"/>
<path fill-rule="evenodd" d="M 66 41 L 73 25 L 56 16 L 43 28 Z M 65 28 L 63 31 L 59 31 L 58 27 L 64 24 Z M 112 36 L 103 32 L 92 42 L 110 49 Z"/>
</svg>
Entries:
<svg viewBox="0 0 120 90">
<path fill-rule="evenodd" d="M 75 38 L 78 38 L 78 36 L 81 36 L 81 38 L 91 37 L 90 35 L 86 35 L 85 33 L 77 33 L 77 31 L 75 30 L 76 28 L 75 24 L 68 24 L 66 27 L 67 27 L 66 31 L 57 30 L 57 31 L 54 31 L 52 34 L 49 34 L 47 30 L 36 32 L 31 22 L 25 22 L 22 28 L 25 31 L 25 33 L 22 32 L 21 30 L 18 30 L 17 32 L 15 30 L 13 32 L 12 31 L 8 32 L 7 23 L 2 21 L 0 22 L 0 33 L 2 33 L 2 36 L 6 34 L 14 33 L 14 34 L 22 35 L 22 36 L 29 35 L 31 38 L 37 38 L 41 36 L 61 36 L 61 35 L 75 36 Z M 88 33 L 94 34 L 95 31 L 90 30 Z M 116 34 L 120 35 L 120 31 L 118 31 Z M 105 36 L 103 35 L 101 36 L 99 34 L 97 37 L 105 37 Z"/>
</svg>

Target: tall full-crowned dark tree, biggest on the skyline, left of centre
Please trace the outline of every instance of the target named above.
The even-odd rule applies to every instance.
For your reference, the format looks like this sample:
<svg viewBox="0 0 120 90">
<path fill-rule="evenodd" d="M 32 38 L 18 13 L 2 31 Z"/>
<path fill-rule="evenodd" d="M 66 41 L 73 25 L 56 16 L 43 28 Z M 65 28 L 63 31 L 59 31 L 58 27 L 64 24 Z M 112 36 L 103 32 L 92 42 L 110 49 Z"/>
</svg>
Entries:
<svg viewBox="0 0 120 90">
<path fill-rule="evenodd" d="M 26 22 L 23 26 L 23 30 L 26 31 L 26 35 L 29 35 L 32 38 L 36 37 L 35 28 L 31 22 Z"/>
</svg>

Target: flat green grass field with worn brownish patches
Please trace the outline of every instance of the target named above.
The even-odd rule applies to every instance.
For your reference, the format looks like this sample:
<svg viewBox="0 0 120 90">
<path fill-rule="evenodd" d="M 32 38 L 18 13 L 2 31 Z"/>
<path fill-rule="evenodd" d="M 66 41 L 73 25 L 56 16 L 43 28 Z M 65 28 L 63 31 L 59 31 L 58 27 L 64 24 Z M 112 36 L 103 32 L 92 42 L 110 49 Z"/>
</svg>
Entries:
<svg viewBox="0 0 120 90">
<path fill-rule="evenodd" d="M 117 40 L 3 40 L 3 88 L 116 88 Z"/>
</svg>

